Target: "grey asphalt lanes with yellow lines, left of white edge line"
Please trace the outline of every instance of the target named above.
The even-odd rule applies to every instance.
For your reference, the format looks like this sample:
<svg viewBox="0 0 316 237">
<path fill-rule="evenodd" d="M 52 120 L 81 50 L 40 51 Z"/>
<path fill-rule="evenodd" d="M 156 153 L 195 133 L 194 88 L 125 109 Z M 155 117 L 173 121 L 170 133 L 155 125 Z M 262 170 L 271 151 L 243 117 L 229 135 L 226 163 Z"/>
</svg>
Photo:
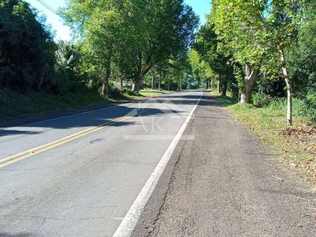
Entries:
<svg viewBox="0 0 316 237">
<path fill-rule="evenodd" d="M 0 236 L 112 237 L 201 94 L 0 130 Z"/>
</svg>

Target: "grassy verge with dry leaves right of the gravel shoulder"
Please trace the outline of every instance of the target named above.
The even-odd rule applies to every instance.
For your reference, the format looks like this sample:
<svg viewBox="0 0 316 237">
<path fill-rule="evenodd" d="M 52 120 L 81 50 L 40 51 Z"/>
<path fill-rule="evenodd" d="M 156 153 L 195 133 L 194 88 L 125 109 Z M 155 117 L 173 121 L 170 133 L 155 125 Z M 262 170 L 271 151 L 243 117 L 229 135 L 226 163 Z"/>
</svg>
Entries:
<svg viewBox="0 0 316 237">
<path fill-rule="evenodd" d="M 271 145 L 276 155 L 295 168 L 302 176 L 316 184 L 316 128 L 306 124 L 306 118 L 295 116 L 293 125 L 286 124 L 284 106 L 256 108 L 239 104 L 237 98 L 211 92 L 233 118 L 249 128 L 265 144 Z"/>
</svg>

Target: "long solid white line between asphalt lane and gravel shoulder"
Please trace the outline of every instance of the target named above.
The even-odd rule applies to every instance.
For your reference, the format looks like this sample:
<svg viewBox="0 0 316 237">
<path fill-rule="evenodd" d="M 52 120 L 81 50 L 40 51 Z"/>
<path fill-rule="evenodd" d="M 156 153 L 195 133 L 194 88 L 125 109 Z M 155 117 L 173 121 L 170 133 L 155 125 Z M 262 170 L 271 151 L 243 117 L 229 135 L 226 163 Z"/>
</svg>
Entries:
<svg viewBox="0 0 316 237">
<path fill-rule="evenodd" d="M 203 92 L 202 92 L 202 95 L 203 95 Z M 191 110 L 185 122 L 182 124 L 180 130 L 178 131 L 177 135 L 172 140 L 168 149 L 163 154 L 161 160 L 159 161 L 153 173 L 147 180 L 145 186 L 143 187 L 139 195 L 136 197 L 132 206 L 129 208 L 127 214 L 125 215 L 124 219 L 118 226 L 118 229 L 114 233 L 113 237 L 130 237 L 131 236 L 138 222 L 138 219 L 141 213 L 143 212 L 145 205 L 147 204 L 147 201 L 151 197 L 164 168 L 166 167 L 171 155 L 173 154 L 174 149 L 176 148 L 178 142 L 180 141 L 183 132 L 185 131 L 187 125 L 189 124 L 189 121 L 191 120 L 192 115 L 194 111 L 196 110 L 200 99 L 202 98 L 202 95 L 198 99 L 197 104 Z"/>
</svg>

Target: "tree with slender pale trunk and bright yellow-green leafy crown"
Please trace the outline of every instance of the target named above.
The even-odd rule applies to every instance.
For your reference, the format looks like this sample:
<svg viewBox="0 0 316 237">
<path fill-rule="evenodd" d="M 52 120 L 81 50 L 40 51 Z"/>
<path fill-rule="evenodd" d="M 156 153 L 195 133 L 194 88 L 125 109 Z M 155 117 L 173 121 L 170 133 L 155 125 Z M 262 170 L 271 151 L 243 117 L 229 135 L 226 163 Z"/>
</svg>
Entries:
<svg viewBox="0 0 316 237">
<path fill-rule="evenodd" d="M 241 62 L 253 62 L 258 58 L 254 69 L 262 66 L 265 57 L 266 68 L 275 64 L 276 53 L 283 79 L 287 87 L 287 122 L 292 123 L 292 80 L 289 77 L 284 51 L 295 40 L 295 30 L 302 13 L 302 2 L 295 0 L 215 0 L 214 21 L 217 32 L 236 47 L 235 58 Z M 226 24 L 226 27 L 225 27 Z M 223 27 L 221 29 L 221 27 Z M 234 40 L 236 39 L 236 40 Z M 249 40 L 252 40 L 250 43 Z M 240 50 L 238 50 L 240 48 Z M 237 54 L 236 54 L 237 52 Z M 240 52 L 243 52 L 240 54 Z M 259 56 L 259 57 L 258 57 Z M 255 75 L 247 68 L 247 75 Z"/>
</svg>

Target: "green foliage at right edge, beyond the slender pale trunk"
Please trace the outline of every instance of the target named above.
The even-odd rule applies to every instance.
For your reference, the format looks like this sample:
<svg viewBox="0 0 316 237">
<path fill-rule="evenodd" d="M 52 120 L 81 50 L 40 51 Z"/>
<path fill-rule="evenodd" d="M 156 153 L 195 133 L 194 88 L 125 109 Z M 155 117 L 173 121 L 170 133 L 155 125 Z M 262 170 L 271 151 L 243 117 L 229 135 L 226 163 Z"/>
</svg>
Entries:
<svg viewBox="0 0 316 237">
<path fill-rule="evenodd" d="M 306 1 L 297 40 L 287 48 L 287 65 L 295 96 L 304 102 L 304 115 L 316 124 L 316 2 Z"/>
</svg>

